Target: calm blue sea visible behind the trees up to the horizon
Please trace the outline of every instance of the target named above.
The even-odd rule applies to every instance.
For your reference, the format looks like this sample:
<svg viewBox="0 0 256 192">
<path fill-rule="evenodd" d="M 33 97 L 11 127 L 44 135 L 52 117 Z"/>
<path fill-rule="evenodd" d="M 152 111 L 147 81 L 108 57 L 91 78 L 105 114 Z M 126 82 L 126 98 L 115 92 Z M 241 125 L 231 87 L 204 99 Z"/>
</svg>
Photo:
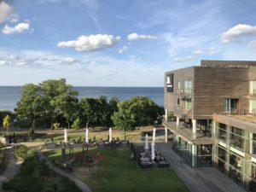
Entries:
<svg viewBox="0 0 256 192">
<path fill-rule="evenodd" d="M 119 100 L 130 99 L 132 96 L 148 96 L 154 102 L 164 104 L 163 87 L 73 87 L 81 97 L 117 96 Z M 0 110 L 13 111 L 20 100 L 22 87 L 0 86 Z"/>
</svg>

